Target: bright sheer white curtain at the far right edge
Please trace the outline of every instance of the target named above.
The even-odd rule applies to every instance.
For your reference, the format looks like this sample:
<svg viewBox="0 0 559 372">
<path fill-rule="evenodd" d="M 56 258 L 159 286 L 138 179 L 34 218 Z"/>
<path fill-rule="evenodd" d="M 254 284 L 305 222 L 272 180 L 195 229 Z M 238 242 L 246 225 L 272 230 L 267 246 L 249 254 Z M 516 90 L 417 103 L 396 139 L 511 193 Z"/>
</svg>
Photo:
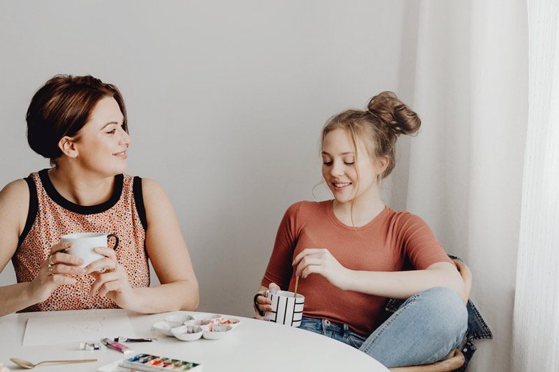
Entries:
<svg viewBox="0 0 559 372">
<path fill-rule="evenodd" d="M 559 3 L 528 1 L 528 135 L 513 371 L 559 371 Z"/>
</svg>

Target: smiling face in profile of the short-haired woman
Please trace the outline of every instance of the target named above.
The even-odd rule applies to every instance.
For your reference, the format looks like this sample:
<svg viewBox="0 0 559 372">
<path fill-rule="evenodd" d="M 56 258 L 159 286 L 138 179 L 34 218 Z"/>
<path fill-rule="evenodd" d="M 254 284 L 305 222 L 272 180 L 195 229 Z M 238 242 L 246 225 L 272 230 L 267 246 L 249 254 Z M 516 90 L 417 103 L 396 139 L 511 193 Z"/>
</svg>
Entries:
<svg viewBox="0 0 559 372">
<path fill-rule="evenodd" d="M 102 98 L 85 126 L 70 140 L 71 144 L 63 144 L 73 149 L 67 154 L 86 170 L 105 176 L 123 173 L 126 171 L 126 150 L 131 142 L 129 134 L 124 131 L 123 120 L 115 98 Z"/>
</svg>

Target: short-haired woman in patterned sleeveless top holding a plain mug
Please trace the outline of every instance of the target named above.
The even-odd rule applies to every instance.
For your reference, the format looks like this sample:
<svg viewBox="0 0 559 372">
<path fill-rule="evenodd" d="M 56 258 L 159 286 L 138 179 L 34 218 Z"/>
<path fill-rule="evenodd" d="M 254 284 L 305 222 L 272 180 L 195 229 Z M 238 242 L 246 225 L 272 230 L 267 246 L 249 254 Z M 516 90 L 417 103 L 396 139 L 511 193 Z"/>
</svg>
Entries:
<svg viewBox="0 0 559 372">
<path fill-rule="evenodd" d="M 125 308 L 195 310 L 198 282 L 173 206 L 159 184 L 124 174 L 131 138 L 119 90 L 92 76 L 57 75 L 27 110 L 31 149 L 52 168 L 0 191 L 0 269 L 13 261 L 17 284 L 0 287 L 0 315 L 15 311 Z M 116 250 L 86 267 L 75 232 L 119 237 Z M 150 288 L 151 260 L 161 285 Z"/>
</svg>

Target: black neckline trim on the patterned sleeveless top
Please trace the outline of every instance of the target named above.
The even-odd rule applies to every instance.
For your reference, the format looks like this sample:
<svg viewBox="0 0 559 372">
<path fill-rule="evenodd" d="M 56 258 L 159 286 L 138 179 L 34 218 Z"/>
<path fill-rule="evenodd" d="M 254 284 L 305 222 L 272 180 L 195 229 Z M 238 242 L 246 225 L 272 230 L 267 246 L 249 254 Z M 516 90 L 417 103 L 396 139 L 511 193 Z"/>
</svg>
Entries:
<svg viewBox="0 0 559 372">
<path fill-rule="evenodd" d="M 122 185 L 124 184 L 124 175 L 117 174 L 115 176 L 115 191 L 110 196 L 110 199 L 106 202 L 96 205 L 80 205 L 71 202 L 60 195 L 55 186 L 50 181 L 48 177 L 48 169 L 43 169 L 39 171 L 39 177 L 41 177 L 41 182 L 43 183 L 43 188 L 49 195 L 49 197 L 57 203 L 60 207 L 68 209 L 68 211 L 73 211 L 78 214 L 96 214 L 107 211 L 108 209 L 114 207 L 117 204 L 120 196 L 122 195 Z"/>
</svg>

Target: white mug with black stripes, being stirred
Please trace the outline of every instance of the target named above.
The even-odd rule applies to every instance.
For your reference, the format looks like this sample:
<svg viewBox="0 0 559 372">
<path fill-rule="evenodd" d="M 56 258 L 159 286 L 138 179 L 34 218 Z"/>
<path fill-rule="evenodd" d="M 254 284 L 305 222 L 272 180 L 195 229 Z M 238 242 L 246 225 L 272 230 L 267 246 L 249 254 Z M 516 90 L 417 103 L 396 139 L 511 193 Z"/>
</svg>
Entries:
<svg viewBox="0 0 559 372">
<path fill-rule="evenodd" d="M 275 293 L 266 291 L 266 298 L 272 300 L 272 311 L 266 311 L 265 316 L 270 318 L 270 322 L 276 322 L 291 327 L 299 327 L 303 319 L 303 305 L 305 296 L 286 290 L 278 290 Z"/>
</svg>

